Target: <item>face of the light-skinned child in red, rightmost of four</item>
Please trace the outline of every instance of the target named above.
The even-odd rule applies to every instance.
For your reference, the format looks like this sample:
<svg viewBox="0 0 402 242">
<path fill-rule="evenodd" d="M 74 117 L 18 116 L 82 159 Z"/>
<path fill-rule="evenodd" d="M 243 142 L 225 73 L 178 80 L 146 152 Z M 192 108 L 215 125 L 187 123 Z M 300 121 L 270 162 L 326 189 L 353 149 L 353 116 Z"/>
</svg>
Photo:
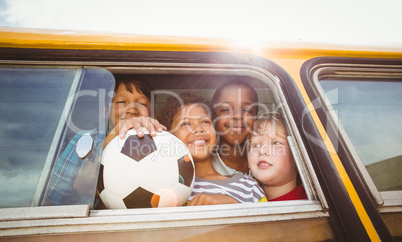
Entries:
<svg viewBox="0 0 402 242">
<path fill-rule="evenodd" d="M 265 126 L 264 135 L 251 139 L 247 155 L 253 176 L 267 186 L 280 186 L 296 179 L 297 168 L 293 161 L 286 130 L 272 122 Z"/>
</svg>

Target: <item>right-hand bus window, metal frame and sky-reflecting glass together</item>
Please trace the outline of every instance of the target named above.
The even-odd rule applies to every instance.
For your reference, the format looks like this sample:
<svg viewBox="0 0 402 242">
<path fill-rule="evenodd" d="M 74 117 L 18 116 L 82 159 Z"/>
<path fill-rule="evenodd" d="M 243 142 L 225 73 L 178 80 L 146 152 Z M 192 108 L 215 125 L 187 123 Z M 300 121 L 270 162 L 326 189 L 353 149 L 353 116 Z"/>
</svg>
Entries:
<svg viewBox="0 0 402 242">
<path fill-rule="evenodd" d="M 399 204 L 400 200 L 394 198 L 402 191 L 400 61 L 336 58 L 311 61 L 320 62 L 310 67 L 311 82 L 340 134 L 340 139 L 333 143 L 342 147 L 344 144 L 348 150 L 341 152 L 340 158 L 352 157 L 378 205 Z"/>
</svg>

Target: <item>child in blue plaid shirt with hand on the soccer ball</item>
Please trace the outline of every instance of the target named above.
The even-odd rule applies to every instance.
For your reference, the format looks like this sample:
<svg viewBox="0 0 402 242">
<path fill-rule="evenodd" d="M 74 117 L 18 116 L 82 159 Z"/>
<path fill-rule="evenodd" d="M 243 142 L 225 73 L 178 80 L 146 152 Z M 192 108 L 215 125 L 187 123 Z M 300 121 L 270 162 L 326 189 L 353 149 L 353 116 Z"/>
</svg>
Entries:
<svg viewBox="0 0 402 242">
<path fill-rule="evenodd" d="M 92 135 L 95 145 L 101 145 L 104 139 L 106 146 L 114 137 L 120 134 L 124 138 L 126 132 L 134 128 L 142 137 L 142 127 L 146 127 L 152 136 L 155 131 L 166 129 L 155 119 L 149 118 L 152 87 L 145 81 L 126 79 L 116 82 L 111 105 L 109 125 L 113 127 L 110 133 Z M 93 200 L 96 181 L 96 170 L 99 156 L 92 152 L 86 158 L 80 158 L 76 152 L 78 140 L 84 133 L 76 134 L 67 144 L 62 155 L 56 162 L 51 181 L 47 188 L 44 205 L 86 204 Z M 88 162 L 90 161 L 90 162 Z"/>
</svg>

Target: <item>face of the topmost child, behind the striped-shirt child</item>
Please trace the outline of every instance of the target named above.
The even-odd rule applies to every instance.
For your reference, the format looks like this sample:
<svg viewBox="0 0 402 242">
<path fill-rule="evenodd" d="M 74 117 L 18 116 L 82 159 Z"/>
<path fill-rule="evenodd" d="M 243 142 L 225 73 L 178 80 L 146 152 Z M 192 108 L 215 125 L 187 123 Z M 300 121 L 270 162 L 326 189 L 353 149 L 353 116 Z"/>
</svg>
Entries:
<svg viewBox="0 0 402 242">
<path fill-rule="evenodd" d="M 243 85 L 230 85 L 217 100 L 216 131 L 223 142 L 230 145 L 243 143 L 250 133 L 256 116 L 256 97 Z"/>
</svg>

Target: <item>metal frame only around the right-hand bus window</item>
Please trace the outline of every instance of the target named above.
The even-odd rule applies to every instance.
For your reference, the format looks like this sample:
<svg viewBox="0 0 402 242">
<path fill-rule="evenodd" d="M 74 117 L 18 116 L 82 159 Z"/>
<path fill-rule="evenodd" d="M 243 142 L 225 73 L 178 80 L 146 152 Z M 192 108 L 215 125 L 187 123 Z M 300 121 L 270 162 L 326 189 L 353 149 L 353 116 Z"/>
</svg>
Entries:
<svg viewBox="0 0 402 242">
<path fill-rule="evenodd" d="M 308 68 L 311 86 L 317 93 L 317 98 L 322 105 L 317 105 L 318 114 L 322 118 L 326 116 L 329 122 L 336 127 L 339 132 L 339 141 L 341 145 L 339 148 L 345 148 L 347 155 L 341 157 L 345 162 L 350 162 L 358 171 L 359 176 L 364 181 L 364 185 L 370 193 L 375 204 L 378 206 L 380 212 L 387 211 L 402 211 L 402 200 L 398 199 L 402 197 L 402 190 L 400 191 L 379 191 L 375 186 L 370 174 L 363 164 L 360 156 L 358 155 L 354 145 L 352 144 L 346 130 L 339 121 L 332 104 L 329 102 L 323 88 L 320 84 L 320 78 L 322 77 L 337 77 L 337 78 L 370 78 L 370 80 L 376 78 L 386 79 L 399 79 L 402 80 L 402 61 L 399 59 L 367 59 L 367 58 L 337 58 L 337 57 L 324 57 L 315 58 L 309 61 Z M 346 79 L 348 81 L 353 81 Z M 305 81 L 304 83 L 307 83 Z M 312 93 L 310 93 L 312 95 Z M 324 120 L 326 120 L 326 118 Z M 336 143 L 336 142 L 334 142 Z M 344 144 L 344 145 L 342 145 Z M 399 208 L 398 208 L 399 206 Z"/>
</svg>

